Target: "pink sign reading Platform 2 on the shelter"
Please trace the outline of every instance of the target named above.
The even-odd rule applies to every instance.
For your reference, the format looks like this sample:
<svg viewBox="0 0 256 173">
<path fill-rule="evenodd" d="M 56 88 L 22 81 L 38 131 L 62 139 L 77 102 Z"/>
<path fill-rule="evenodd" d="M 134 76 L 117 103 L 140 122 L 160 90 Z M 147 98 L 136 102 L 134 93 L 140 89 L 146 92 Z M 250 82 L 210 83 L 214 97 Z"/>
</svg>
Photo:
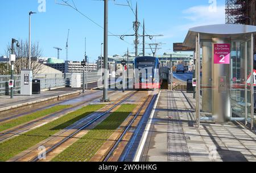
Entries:
<svg viewBox="0 0 256 173">
<path fill-rule="evenodd" d="M 230 44 L 214 44 L 214 64 L 230 64 Z"/>
</svg>

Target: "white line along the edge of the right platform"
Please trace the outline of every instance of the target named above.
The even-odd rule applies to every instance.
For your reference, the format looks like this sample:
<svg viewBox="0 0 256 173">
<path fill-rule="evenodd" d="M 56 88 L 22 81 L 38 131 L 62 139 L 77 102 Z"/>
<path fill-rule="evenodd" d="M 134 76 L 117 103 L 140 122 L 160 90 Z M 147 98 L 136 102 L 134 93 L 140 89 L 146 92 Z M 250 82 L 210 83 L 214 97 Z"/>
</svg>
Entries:
<svg viewBox="0 0 256 173">
<path fill-rule="evenodd" d="M 155 100 L 155 104 L 154 104 L 153 110 L 152 110 L 152 112 L 150 114 L 150 119 L 148 120 L 146 129 L 144 130 L 144 133 L 143 133 L 143 136 L 142 136 L 142 140 L 141 140 L 141 142 L 139 142 L 139 148 L 138 148 L 138 150 L 136 152 L 136 155 L 134 157 L 133 162 L 139 162 L 139 160 L 141 159 L 142 151 L 143 151 L 144 146 L 146 144 L 148 132 L 150 130 L 150 126 L 152 124 L 153 117 L 155 115 L 155 109 L 156 109 L 156 106 L 158 106 L 158 100 L 159 100 L 160 94 L 161 94 L 161 91 L 158 94 L 158 98 Z"/>
</svg>

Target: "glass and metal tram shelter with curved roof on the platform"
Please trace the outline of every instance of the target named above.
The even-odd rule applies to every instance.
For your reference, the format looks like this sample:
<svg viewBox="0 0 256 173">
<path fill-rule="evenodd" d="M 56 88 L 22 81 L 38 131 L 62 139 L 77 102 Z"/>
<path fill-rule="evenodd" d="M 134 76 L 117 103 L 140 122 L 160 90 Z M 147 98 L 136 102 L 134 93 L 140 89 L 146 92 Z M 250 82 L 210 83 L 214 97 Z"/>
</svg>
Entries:
<svg viewBox="0 0 256 173">
<path fill-rule="evenodd" d="M 196 119 L 254 126 L 255 26 L 217 24 L 191 28 L 183 45 L 195 48 Z M 201 60 L 200 60 L 200 57 Z"/>
</svg>

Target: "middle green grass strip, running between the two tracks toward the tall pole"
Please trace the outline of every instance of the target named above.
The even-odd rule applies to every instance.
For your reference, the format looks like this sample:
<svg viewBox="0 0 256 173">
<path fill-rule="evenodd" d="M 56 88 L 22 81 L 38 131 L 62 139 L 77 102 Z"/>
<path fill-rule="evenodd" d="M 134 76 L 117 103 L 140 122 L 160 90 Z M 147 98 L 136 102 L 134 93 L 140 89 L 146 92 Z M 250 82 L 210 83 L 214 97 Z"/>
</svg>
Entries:
<svg viewBox="0 0 256 173">
<path fill-rule="evenodd" d="M 7 161 L 10 158 L 13 158 L 20 152 L 29 149 L 43 140 L 46 140 L 53 134 L 67 128 L 69 125 L 76 123 L 76 121 L 79 121 L 80 119 L 104 106 L 105 105 L 86 106 L 75 112 L 68 113 L 67 115 L 60 117 L 51 123 L 0 143 L 0 161 Z"/>
</svg>

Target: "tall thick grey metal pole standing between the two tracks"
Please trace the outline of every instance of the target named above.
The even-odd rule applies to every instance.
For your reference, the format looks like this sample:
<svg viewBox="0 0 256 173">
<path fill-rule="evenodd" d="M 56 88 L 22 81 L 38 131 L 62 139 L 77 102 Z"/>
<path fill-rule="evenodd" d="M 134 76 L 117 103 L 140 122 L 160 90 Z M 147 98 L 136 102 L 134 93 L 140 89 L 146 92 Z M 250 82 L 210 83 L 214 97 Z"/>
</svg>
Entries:
<svg viewBox="0 0 256 173">
<path fill-rule="evenodd" d="M 104 94 L 103 102 L 108 102 L 108 87 L 109 87 L 109 75 L 108 75 L 108 5 L 109 0 L 104 1 Z"/>
</svg>

